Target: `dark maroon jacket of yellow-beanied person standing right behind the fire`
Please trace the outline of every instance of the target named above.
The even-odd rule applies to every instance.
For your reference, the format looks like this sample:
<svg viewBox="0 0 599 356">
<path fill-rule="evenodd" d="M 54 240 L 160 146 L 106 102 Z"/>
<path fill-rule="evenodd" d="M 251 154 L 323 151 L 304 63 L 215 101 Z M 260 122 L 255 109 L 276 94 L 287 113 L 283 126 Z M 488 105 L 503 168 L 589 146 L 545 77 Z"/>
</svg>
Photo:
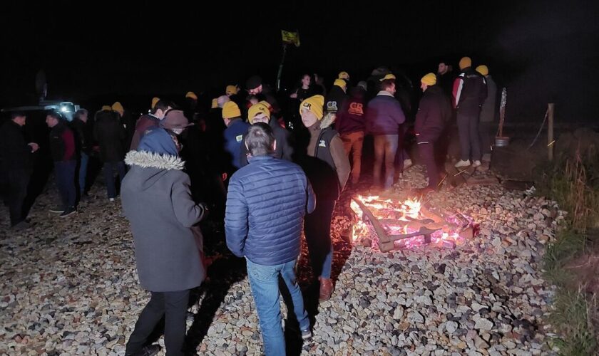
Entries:
<svg viewBox="0 0 599 356">
<path fill-rule="evenodd" d="M 451 117 L 449 98 L 438 85 L 429 86 L 420 99 L 414 130 L 418 142 L 436 141 Z"/>
</svg>

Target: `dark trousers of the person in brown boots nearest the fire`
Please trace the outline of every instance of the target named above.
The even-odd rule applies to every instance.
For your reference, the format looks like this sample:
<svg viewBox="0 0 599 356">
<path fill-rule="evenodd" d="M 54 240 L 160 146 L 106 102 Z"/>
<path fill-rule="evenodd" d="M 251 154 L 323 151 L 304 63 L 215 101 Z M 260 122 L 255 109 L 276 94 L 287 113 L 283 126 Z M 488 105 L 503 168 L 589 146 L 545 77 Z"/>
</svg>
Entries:
<svg viewBox="0 0 599 356">
<path fill-rule="evenodd" d="M 318 199 L 318 197 L 317 197 Z M 335 209 L 334 200 L 317 200 L 316 209 L 307 214 L 305 223 L 306 243 L 314 276 L 331 278 L 333 244 L 331 220 Z"/>
</svg>

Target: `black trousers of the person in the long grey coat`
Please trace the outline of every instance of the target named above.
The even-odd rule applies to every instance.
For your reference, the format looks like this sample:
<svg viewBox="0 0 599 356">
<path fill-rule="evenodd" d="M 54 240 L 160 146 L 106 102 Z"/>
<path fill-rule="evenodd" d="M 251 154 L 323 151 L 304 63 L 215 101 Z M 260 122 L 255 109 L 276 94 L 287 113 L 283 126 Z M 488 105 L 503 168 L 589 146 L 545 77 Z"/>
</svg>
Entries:
<svg viewBox="0 0 599 356">
<path fill-rule="evenodd" d="M 148 342 L 156 325 L 165 318 L 164 345 L 166 355 L 183 355 L 185 342 L 185 318 L 189 302 L 189 290 L 177 292 L 150 292 L 152 298 L 141 311 L 135 329 L 129 337 L 125 354 L 134 355 Z"/>
</svg>

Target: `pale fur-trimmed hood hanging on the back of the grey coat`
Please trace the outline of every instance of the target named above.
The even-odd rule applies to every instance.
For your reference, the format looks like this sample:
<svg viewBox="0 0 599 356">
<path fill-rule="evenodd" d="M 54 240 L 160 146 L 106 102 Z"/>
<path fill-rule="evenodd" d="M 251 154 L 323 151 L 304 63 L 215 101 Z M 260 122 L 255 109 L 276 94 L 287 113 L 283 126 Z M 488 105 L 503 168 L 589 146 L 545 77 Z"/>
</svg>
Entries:
<svg viewBox="0 0 599 356">
<path fill-rule="evenodd" d="M 153 189 L 163 179 L 173 179 L 177 174 L 185 174 L 182 172 L 185 162 L 177 156 L 130 151 L 125 157 L 125 163 L 131 166 L 125 177 L 126 184 L 137 192 Z M 175 176 L 173 172 L 176 172 Z"/>
</svg>

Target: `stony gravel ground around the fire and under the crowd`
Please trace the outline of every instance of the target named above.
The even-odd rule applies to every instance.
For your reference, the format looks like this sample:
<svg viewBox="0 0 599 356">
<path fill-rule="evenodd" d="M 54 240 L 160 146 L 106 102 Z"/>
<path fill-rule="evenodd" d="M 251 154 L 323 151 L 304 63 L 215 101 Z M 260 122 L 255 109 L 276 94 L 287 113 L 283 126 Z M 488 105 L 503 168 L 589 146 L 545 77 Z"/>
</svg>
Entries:
<svg viewBox="0 0 599 356">
<path fill-rule="evenodd" d="M 422 182 L 421 167 L 409 169 L 394 186 L 396 196 Z M 500 185 L 444 189 L 431 203 L 472 216 L 478 235 L 455 248 L 382 253 L 347 242 L 349 198 L 365 192 L 349 190 L 337 206 L 336 290 L 320 305 L 304 248 L 299 279 L 314 337 L 302 345 L 286 320 L 291 354 L 556 353 L 547 343 L 551 325 L 543 323 L 552 289 L 541 277 L 545 246 L 563 221 L 556 204 Z M 95 187 L 78 214 L 59 219 L 47 212 L 55 194 L 50 189 L 37 199 L 34 225 L 25 231 L 9 231 L 8 211 L 0 211 L 0 354 L 123 355 L 149 293 L 138 285 L 121 204 Z M 245 263 L 227 253 L 220 224 L 204 232 L 214 263 L 194 292 L 190 347 L 208 355 L 260 355 Z"/>
</svg>

